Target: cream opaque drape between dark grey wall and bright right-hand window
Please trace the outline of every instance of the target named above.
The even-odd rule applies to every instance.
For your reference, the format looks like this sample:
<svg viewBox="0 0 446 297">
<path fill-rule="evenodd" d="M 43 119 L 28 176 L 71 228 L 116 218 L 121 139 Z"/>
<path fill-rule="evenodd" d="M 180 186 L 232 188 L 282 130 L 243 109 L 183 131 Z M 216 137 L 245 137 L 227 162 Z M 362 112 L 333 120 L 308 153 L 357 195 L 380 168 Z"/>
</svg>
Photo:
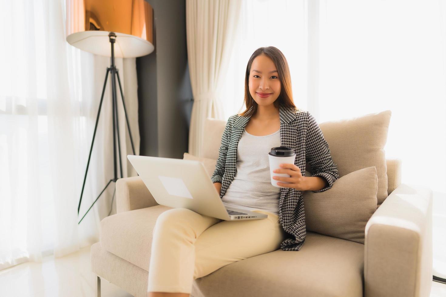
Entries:
<svg viewBox="0 0 446 297">
<path fill-rule="evenodd" d="M 191 155 L 202 154 L 206 118 L 223 117 L 222 102 L 216 98 L 234 47 L 240 4 L 240 0 L 186 0 L 187 56 L 194 94 L 188 149 Z"/>
</svg>

